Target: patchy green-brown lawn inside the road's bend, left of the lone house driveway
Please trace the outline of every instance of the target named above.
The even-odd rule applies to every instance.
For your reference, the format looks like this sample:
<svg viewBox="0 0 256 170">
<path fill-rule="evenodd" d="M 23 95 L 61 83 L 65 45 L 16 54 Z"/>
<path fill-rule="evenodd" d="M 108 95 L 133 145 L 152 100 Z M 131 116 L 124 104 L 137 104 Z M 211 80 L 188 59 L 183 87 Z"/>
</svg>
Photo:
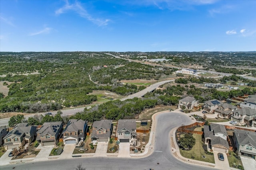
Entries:
<svg viewBox="0 0 256 170">
<path fill-rule="evenodd" d="M 196 144 L 194 147 L 191 150 L 180 149 L 180 154 L 185 158 L 215 163 L 213 155 L 205 154 L 205 151 L 202 147 L 202 135 L 193 134 L 193 137 L 196 139 Z M 206 158 L 202 158 L 203 155 L 206 156 Z"/>
</svg>

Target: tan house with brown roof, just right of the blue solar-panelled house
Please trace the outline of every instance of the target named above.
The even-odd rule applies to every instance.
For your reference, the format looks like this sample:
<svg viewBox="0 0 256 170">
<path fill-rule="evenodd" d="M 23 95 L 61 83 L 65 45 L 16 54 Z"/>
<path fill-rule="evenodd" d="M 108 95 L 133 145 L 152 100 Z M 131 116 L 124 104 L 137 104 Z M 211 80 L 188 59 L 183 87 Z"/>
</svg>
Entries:
<svg viewBox="0 0 256 170">
<path fill-rule="evenodd" d="M 224 103 L 218 106 L 217 109 L 214 110 L 215 114 L 220 114 L 220 116 L 230 119 L 230 116 L 236 111 L 238 107 L 233 106 L 231 104 Z"/>
</svg>

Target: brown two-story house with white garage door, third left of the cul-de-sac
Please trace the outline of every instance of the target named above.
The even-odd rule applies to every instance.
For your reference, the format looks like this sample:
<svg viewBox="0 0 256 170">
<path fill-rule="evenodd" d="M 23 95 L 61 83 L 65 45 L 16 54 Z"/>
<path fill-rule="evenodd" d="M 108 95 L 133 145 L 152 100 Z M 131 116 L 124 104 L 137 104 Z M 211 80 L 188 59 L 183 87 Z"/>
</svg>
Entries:
<svg viewBox="0 0 256 170">
<path fill-rule="evenodd" d="M 88 121 L 70 119 L 62 132 L 64 144 L 78 144 L 83 142 L 86 136 Z"/>
</svg>

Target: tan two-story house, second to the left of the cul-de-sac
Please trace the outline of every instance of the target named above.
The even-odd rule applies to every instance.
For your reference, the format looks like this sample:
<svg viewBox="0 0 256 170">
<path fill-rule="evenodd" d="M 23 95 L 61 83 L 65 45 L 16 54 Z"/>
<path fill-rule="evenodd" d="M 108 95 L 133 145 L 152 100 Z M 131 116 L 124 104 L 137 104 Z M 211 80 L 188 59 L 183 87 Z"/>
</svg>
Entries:
<svg viewBox="0 0 256 170">
<path fill-rule="evenodd" d="M 91 141 L 93 142 L 108 142 L 112 133 L 112 120 L 94 121 L 92 124 Z"/>
</svg>

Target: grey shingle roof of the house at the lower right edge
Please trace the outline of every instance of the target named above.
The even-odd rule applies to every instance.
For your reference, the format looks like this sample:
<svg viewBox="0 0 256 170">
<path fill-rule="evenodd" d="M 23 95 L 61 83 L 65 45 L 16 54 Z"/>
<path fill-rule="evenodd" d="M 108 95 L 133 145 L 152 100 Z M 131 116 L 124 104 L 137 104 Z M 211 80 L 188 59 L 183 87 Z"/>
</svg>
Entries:
<svg viewBox="0 0 256 170">
<path fill-rule="evenodd" d="M 234 134 L 239 145 L 252 145 L 256 147 L 256 132 L 234 129 Z"/>
</svg>

